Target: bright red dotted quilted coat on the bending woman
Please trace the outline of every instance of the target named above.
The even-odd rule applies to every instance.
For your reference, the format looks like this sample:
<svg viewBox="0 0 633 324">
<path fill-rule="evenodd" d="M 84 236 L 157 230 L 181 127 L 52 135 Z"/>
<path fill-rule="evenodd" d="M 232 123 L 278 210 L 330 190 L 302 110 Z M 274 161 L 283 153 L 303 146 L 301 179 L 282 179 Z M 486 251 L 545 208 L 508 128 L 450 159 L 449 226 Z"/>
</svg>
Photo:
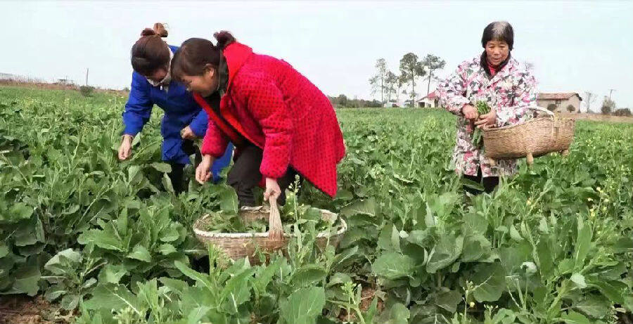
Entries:
<svg viewBox="0 0 633 324">
<path fill-rule="evenodd" d="M 194 94 L 209 115 L 201 152 L 221 157 L 228 142 L 239 143 L 241 135 L 264 151 L 262 175 L 278 179 L 292 166 L 334 197 L 336 164 L 345 145 L 328 98 L 285 61 L 253 53 L 243 44 L 227 46 L 224 57 L 229 67 L 219 109 L 224 118 Z"/>
</svg>

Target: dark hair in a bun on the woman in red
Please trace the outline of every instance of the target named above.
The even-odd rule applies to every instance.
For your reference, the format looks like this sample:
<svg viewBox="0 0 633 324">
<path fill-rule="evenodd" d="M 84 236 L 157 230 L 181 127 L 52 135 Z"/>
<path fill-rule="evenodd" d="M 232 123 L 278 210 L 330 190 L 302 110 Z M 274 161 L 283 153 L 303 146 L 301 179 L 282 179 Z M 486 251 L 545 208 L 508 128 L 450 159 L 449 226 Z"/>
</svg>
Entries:
<svg viewBox="0 0 633 324">
<path fill-rule="evenodd" d="M 226 31 L 217 32 L 213 37 L 217 39 L 215 45 L 202 38 L 190 38 L 182 43 L 172 59 L 172 79 L 182 81 L 184 75 L 202 75 L 209 65 L 217 68 L 224 48 L 236 40 Z"/>
</svg>

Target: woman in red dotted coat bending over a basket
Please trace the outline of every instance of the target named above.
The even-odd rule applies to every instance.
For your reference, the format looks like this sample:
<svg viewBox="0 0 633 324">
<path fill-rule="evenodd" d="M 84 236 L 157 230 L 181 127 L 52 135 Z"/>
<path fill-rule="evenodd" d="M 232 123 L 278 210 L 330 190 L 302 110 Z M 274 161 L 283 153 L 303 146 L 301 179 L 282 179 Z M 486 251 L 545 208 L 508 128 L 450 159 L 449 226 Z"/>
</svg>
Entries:
<svg viewBox="0 0 633 324">
<path fill-rule="evenodd" d="M 194 92 L 209 125 L 196 180 L 229 141 L 236 149 L 227 182 L 241 206 L 254 206 L 253 188 L 265 183 L 264 200 L 285 202 L 295 175 L 336 195 L 336 165 L 345 155 L 343 134 L 328 98 L 283 60 L 252 52 L 229 32 L 188 39 L 172 60 L 172 77 Z"/>
</svg>

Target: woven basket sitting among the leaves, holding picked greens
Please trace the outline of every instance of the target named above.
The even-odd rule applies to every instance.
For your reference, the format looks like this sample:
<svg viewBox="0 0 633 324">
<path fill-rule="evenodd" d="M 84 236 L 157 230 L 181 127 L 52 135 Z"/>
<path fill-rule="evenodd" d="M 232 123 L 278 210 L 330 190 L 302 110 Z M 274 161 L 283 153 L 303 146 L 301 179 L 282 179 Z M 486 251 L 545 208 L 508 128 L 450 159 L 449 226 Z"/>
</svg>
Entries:
<svg viewBox="0 0 633 324">
<path fill-rule="evenodd" d="M 345 220 L 338 217 L 337 214 L 325 209 L 319 209 L 321 211 L 321 218 L 335 223 L 332 226 L 335 233 L 328 231 L 320 232 L 316 235 L 316 245 L 323 250 L 326 245 L 338 246 L 340 237 L 347 231 L 347 223 Z M 254 208 L 241 209 L 240 217 L 245 222 L 252 222 L 256 219 L 270 219 L 272 210 L 269 207 L 260 206 Z M 224 251 L 227 257 L 231 259 L 241 259 L 248 257 L 253 264 L 257 263 L 257 260 L 253 258 L 255 251 L 260 250 L 262 252 L 274 252 L 276 250 L 286 250 L 288 246 L 288 240 L 292 238 L 292 235 L 283 233 L 283 239 L 275 240 L 269 238 L 269 233 L 212 233 L 203 231 L 204 222 L 210 217 L 209 214 L 201 217 L 193 224 L 193 232 L 196 233 L 196 237 L 200 242 L 212 244 Z M 336 223 L 336 221 L 339 221 Z M 338 225 L 338 226 L 337 226 Z"/>
</svg>

